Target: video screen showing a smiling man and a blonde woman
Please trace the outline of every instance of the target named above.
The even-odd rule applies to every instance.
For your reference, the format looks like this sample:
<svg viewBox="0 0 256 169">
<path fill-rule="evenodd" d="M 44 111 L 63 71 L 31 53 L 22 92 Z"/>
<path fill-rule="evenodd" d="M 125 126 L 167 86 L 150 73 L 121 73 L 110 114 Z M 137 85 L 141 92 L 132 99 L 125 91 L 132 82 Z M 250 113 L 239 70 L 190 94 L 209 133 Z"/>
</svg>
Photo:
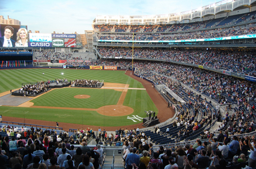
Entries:
<svg viewBox="0 0 256 169">
<path fill-rule="evenodd" d="M 10 34 L 5 34 L 5 32 Z M 4 42 L 1 40 L 0 47 L 28 47 L 28 27 L 27 25 L 0 24 L 0 38 Z M 5 39 L 9 39 L 11 43 L 5 43 Z M 24 39 L 26 43 L 23 44 Z"/>
</svg>

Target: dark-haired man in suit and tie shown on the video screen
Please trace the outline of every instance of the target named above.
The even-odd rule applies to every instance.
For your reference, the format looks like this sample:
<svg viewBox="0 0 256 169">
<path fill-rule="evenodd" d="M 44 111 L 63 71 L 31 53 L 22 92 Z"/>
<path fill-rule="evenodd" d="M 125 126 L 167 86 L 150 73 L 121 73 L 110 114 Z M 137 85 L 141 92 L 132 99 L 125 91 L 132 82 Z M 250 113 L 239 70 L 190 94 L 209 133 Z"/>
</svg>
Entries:
<svg viewBox="0 0 256 169">
<path fill-rule="evenodd" d="M 12 26 L 5 26 L 5 36 L 0 38 L 0 47 L 14 47 L 15 41 L 12 40 L 14 29 Z"/>
</svg>

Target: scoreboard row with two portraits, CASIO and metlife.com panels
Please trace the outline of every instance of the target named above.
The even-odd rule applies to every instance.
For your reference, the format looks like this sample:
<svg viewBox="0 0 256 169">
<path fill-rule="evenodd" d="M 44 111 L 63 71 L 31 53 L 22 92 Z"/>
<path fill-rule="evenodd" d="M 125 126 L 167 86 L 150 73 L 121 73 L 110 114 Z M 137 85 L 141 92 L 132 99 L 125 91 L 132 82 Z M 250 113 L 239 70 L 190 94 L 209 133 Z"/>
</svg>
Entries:
<svg viewBox="0 0 256 169">
<path fill-rule="evenodd" d="M 26 25 L 0 24 L 0 47 L 76 47 L 76 34 L 28 33 Z"/>
</svg>

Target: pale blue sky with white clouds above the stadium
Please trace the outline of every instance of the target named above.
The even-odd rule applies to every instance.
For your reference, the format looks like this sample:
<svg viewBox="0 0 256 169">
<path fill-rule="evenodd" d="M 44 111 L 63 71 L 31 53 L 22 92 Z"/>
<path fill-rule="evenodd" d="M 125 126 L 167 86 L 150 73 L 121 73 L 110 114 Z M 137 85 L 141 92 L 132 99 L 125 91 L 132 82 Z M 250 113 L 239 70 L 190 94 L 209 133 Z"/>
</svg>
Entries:
<svg viewBox="0 0 256 169">
<path fill-rule="evenodd" d="M 219 0 L 221 1 L 221 0 Z M 19 20 L 32 33 L 65 33 L 93 30 L 96 15 L 160 15 L 189 11 L 215 0 L 0 0 L 0 15 Z"/>
</svg>

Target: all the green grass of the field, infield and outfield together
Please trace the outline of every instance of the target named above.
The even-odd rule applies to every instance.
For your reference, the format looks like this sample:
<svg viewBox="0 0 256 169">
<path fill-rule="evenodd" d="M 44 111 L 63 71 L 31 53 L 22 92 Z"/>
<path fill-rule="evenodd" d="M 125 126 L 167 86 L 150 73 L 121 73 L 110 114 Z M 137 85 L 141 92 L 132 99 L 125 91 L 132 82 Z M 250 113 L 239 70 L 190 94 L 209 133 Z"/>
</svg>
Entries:
<svg viewBox="0 0 256 169">
<path fill-rule="evenodd" d="M 44 73 L 44 75 L 42 74 Z M 64 73 L 62 76 L 61 73 Z M 0 70 L 0 93 L 20 88 L 24 82 L 36 82 L 55 78 L 98 79 L 104 82 L 129 84 L 130 88 L 143 88 L 137 80 L 124 74 L 124 71 L 82 70 L 82 69 L 15 69 Z M 74 99 L 75 95 L 86 94 L 88 99 Z M 32 102 L 40 106 L 98 108 L 103 105 L 116 104 L 121 92 L 107 89 L 77 89 L 63 88 L 53 90 Z M 73 101 L 75 100 L 75 102 Z M 132 107 L 132 115 L 145 117 L 145 110 L 158 111 L 145 90 L 128 90 L 123 105 Z M 110 117 L 98 114 L 96 111 L 46 109 L 31 107 L 0 106 L 0 112 L 5 117 L 58 121 L 65 123 L 94 125 L 94 126 L 125 126 L 136 123 L 127 116 Z M 131 115 L 129 115 L 131 117 Z"/>
</svg>

